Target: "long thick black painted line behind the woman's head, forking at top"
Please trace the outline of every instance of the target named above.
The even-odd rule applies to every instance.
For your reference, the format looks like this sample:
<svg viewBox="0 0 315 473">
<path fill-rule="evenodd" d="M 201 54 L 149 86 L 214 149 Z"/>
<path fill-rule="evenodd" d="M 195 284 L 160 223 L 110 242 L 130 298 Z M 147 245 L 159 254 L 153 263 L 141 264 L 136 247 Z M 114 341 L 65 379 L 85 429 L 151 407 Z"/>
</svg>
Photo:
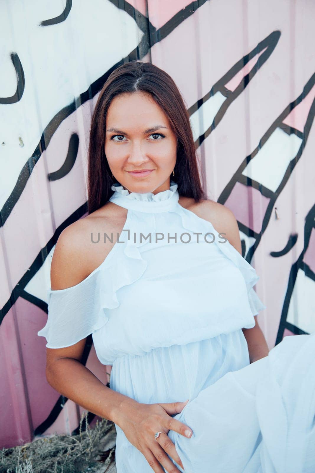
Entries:
<svg viewBox="0 0 315 473">
<path fill-rule="evenodd" d="M 112 0 L 109 0 L 112 3 L 115 3 Z M 190 5 L 194 5 L 194 8 L 201 7 L 206 1 L 210 0 L 200 0 L 198 2 L 192 2 Z M 109 70 L 105 72 L 99 79 L 96 79 L 90 87 L 80 94 L 80 96 L 76 97 L 73 102 L 69 105 L 66 105 L 64 108 L 62 108 L 48 123 L 46 128 L 44 129 L 41 139 L 36 146 L 33 155 L 28 158 L 26 161 L 25 165 L 22 167 L 20 174 L 17 178 L 17 183 L 15 184 L 12 192 L 10 193 L 7 201 L 3 204 L 2 209 L 0 210 L 0 227 L 2 227 L 7 219 L 9 218 L 9 215 L 11 211 L 14 209 L 14 206 L 16 205 L 18 199 L 20 198 L 21 194 L 23 193 L 23 190 L 26 186 L 26 183 L 33 172 L 34 166 L 36 165 L 38 159 L 41 157 L 43 151 L 47 148 L 47 146 L 50 143 L 51 137 L 53 136 L 54 132 L 57 130 L 57 128 L 60 126 L 60 123 L 63 122 L 70 114 L 75 112 L 75 110 L 80 106 L 83 105 L 87 100 L 92 99 L 102 88 L 108 77 L 110 76 L 111 72 L 115 70 L 118 66 L 121 64 L 127 62 L 127 61 L 134 61 L 136 59 L 141 59 L 143 58 L 146 53 L 148 53 L 150 47 L 151 47 L 151 42 L 150 42 L 150 34 L 152 34 L 152 31 L 154 32 L 155 28 L 153 25 L 150 24 L 148 19 L 144 17 L 140 12 L 138 12 L 136 9 L 134 9 L 128 2 L 124 1 L 123 5 L 125 6 L 126 9 L 132 9 L 133 15 L 136 18 L 142 18 L 141 25 L 139 24 L 138 26 L 147 28 L 146 34 L 141 38 L 140 43 L 136 46 L 136 48 L 131 51 L 131 53 L 128 54 L 128 56 L 114 64 Z M 189 9 L 190 5 L 188 5 L 186 8 Z M 119 7 L 120 8 L 120 7 Z M 169 22 L 167 22 L 164 26 L 162 26 L 159 30 L 157 30 L 156 35 L 157 37 L 164 38 L 167 35 L 169 35 L 172 31 L 171 25 L 173 25 L 173 29 L 178 26 L 179 19 L 182 18 L 182 21 L 184 21 L 188 16 L 193 14 L 196 9 L 192 9 L 191 11 L 187 10 L 185 13 L 185 10 L 183 12 L 177 13 L 173 18 L 176 18 L 174 22 L 172 23 L 172 19 L 170 19 Z M 122 9 L 122 8 L 121 8 Z M 127 11 L 127 10 L 126 10 Z M 128 11 L 129 15 L 131 15 L 130 11 Z M 140 29 L 141 29 L 140 27 Z M 150 33 L 149 31 L 150 30 Z M 153 41 L 154 44 L 154 41 Z"/>
</svg>

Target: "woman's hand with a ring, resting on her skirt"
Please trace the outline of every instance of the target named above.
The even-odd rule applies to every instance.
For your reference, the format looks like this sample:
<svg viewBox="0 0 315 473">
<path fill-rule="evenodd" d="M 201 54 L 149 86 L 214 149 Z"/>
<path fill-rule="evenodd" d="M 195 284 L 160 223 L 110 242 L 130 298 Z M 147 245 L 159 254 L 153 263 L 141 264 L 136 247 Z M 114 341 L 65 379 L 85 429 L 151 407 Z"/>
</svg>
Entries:
<svg viewBox="0 0 315 473">
<path fill-rule="evenodd" d="M 181 412 L 187 402 L 143 404 L 130 400 L 122 406 L 119 420 L 115 420 L 129 442 L 145 456 L 155 473 L 164 473 L 161 465 L 168 473 L 180 473 L 167 454 L 184 469 L 175 445 L 167 434 L 174 430 L 184 437 L 191 437 L 192 430 L 171 417 L 172 414 Z M 155 439 L 155 432 L 165 432 L 166 435 L 160 434 Z"/>
</svg>

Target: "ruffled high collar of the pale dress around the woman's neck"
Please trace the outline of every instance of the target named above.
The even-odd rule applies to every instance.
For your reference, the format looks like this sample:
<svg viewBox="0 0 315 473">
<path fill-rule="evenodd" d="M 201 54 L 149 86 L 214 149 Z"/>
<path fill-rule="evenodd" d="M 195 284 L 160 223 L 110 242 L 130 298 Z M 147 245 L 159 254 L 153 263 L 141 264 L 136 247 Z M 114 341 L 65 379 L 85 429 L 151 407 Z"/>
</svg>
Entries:
<svg viewBox="0 0 315 473">
<path fill-rule="evenodd" d="M 111 186 L 114 193 L 109 200 L 125 209 L 148 213 L 168 212 L 174 209 L 179 201 L 177 188 L 178 184 L 171 181 L 170 189 L 156 194 L 152 192 L 129 193 L 128 189 L 124 189 L 122 185 L 116 183 Z"/>
</svg>

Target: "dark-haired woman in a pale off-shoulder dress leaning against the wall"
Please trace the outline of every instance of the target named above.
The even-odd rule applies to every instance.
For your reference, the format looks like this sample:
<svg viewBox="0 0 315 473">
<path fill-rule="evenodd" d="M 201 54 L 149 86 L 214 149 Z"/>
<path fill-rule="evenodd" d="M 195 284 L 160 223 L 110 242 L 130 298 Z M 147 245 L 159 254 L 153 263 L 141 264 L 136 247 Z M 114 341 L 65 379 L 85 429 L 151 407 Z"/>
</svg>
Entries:
<svg viewBox="0 0 315 473">
<path fill-rule="evenodd" d="M 166 72 L 141 62 L 112 72 L 88 176 L 89 215 L 61 233 L 51 263 L 38 332 L 48 382 L 115 422 L 118 473 L 258 472 L 255 393 L 273 359 L 255 319 L 259 278 L 232 212 L 203 198 L 186 107 Z M 112 365 L 110 388 L 80 363 L 90 333 Z M 294 349 L 310 354 L 304 337 L 291 337 L 286 362 Z M 287 346 L 270 353 L 281 359 Z"/>
</svg>

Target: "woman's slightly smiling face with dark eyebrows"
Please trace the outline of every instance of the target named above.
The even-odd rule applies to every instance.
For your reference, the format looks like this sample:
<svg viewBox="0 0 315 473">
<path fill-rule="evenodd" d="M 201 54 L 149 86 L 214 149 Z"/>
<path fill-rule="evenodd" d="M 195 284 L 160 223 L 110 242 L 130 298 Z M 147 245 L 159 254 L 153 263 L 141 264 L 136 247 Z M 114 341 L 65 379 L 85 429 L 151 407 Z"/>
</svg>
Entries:
<svg viewBox="0 0 315 473">
<path fill-rule="evenodd" d="M 114 178 L 125 189 L 153 194 L 169 189 L 176 150 L 176 135 L 152 96 L 124 93 L 111 101 L 105 154 Z M 136 173 L 144 169 L 149 172 Z"/>
</svg>

